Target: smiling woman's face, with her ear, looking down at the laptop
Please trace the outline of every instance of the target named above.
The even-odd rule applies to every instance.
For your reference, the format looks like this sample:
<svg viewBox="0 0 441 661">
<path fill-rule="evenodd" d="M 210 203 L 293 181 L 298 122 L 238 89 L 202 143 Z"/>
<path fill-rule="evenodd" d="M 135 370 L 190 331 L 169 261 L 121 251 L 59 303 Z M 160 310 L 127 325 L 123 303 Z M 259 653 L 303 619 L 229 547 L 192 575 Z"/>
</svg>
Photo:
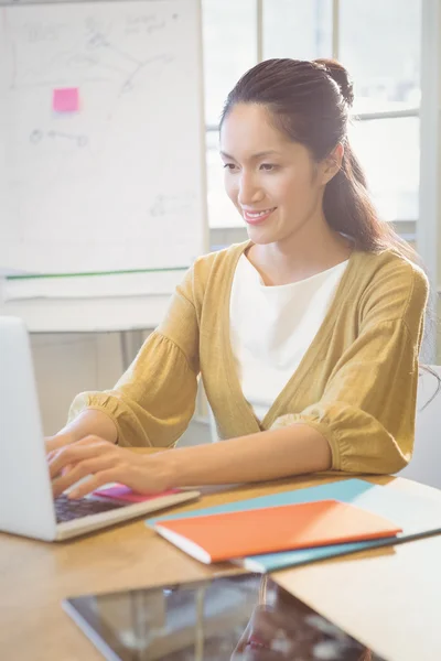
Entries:
<svg viewBox="0 0 441 661">
<path fill-rule="evenodd" d="M 334 172 L 271 126 L 258 105 L 238 104 L 220 131 L 225 189 L 255 243 L 280 242 L 322 221 L 324 186 Z"/>
</svg>

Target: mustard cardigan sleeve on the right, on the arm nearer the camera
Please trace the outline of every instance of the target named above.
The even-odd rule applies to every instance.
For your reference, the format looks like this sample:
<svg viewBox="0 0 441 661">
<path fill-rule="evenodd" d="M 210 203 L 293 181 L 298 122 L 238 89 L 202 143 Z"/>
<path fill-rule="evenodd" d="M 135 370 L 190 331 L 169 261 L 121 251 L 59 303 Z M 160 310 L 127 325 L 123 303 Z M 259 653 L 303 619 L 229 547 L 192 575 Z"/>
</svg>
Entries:
<svg viewBox="0 0 441 661">
<path fill-rule="evenodd" d="M 386 284 L 386 283 L 384 283 Z M 343 353 L 321 400 L 277 419 L 305 423 L 329 442 L 332 469 L 389 474 L 413 448 L 418 357 L 428 296 L 426 277 L 399 275 L 365 296 L 359 333 Z"/>
</svg>

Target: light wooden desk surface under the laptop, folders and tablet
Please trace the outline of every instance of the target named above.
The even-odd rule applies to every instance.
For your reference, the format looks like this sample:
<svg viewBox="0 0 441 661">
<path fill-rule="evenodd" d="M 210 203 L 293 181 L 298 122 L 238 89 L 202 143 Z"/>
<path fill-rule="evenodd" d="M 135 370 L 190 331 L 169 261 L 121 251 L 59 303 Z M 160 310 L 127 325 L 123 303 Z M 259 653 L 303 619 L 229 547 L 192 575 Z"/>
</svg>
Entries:
<svg viewBox="0 0 441 661">
<path fill-rule="evenodd" d="M 223 490 L 180 511 L 325 480 L 330 478 L 297 478 Z M 402 478 L 372 481 L 441 502 L 441 491 Z M 62 610 L 64 597 L 227 571 L 230 565 L 213 568 L 187 557 L 143 521 L 62 544 L 0 534 L 0 658 L 99 661 L 100 654 Z M 286 570 L 273 577 L 390 661 L 434 661 L 441 655 L 441 535 Z"/>
</svg>

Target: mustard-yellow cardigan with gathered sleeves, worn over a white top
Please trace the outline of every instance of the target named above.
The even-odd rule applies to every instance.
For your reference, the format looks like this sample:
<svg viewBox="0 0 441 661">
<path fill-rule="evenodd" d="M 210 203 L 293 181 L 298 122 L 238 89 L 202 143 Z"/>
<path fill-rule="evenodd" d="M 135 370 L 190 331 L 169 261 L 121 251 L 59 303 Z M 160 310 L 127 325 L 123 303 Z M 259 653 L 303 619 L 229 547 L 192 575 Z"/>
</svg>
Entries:
<svg viewBox="0 0 441 661">
<path fill-rule="evenodd" d="M 233 277 L 249 245 L 197 259 L 115 389 L 78 394 L 69 420 L 99 409 L 121 445 L 173 445 L 193 415 L 201 373 L 220 438 L 301 422 L 327 440 L 334 470 L 402 468 L 413 447 L 424 273 L 391 250 L 354 251 L 303 360 L 259 422 L 229 340 Z"/>
</svg>

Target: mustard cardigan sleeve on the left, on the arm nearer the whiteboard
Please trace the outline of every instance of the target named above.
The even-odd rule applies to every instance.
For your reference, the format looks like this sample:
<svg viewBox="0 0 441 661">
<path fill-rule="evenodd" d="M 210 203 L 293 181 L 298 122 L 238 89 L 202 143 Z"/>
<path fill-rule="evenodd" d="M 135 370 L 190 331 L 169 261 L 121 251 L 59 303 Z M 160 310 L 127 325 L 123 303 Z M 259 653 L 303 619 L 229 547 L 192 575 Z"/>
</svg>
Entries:
<svg viewBox="0 0 441 661">
<path fill-rule="evenodd" d="M 194 413 L 197 391 L 198 322 L 193 302 L 193 271 L 176 289 L 162 324 L 112 390 L 83 392 L 68 419 L 98 409 L 114 420 L 125 446 L 173 445 Z"/>
</svg>

